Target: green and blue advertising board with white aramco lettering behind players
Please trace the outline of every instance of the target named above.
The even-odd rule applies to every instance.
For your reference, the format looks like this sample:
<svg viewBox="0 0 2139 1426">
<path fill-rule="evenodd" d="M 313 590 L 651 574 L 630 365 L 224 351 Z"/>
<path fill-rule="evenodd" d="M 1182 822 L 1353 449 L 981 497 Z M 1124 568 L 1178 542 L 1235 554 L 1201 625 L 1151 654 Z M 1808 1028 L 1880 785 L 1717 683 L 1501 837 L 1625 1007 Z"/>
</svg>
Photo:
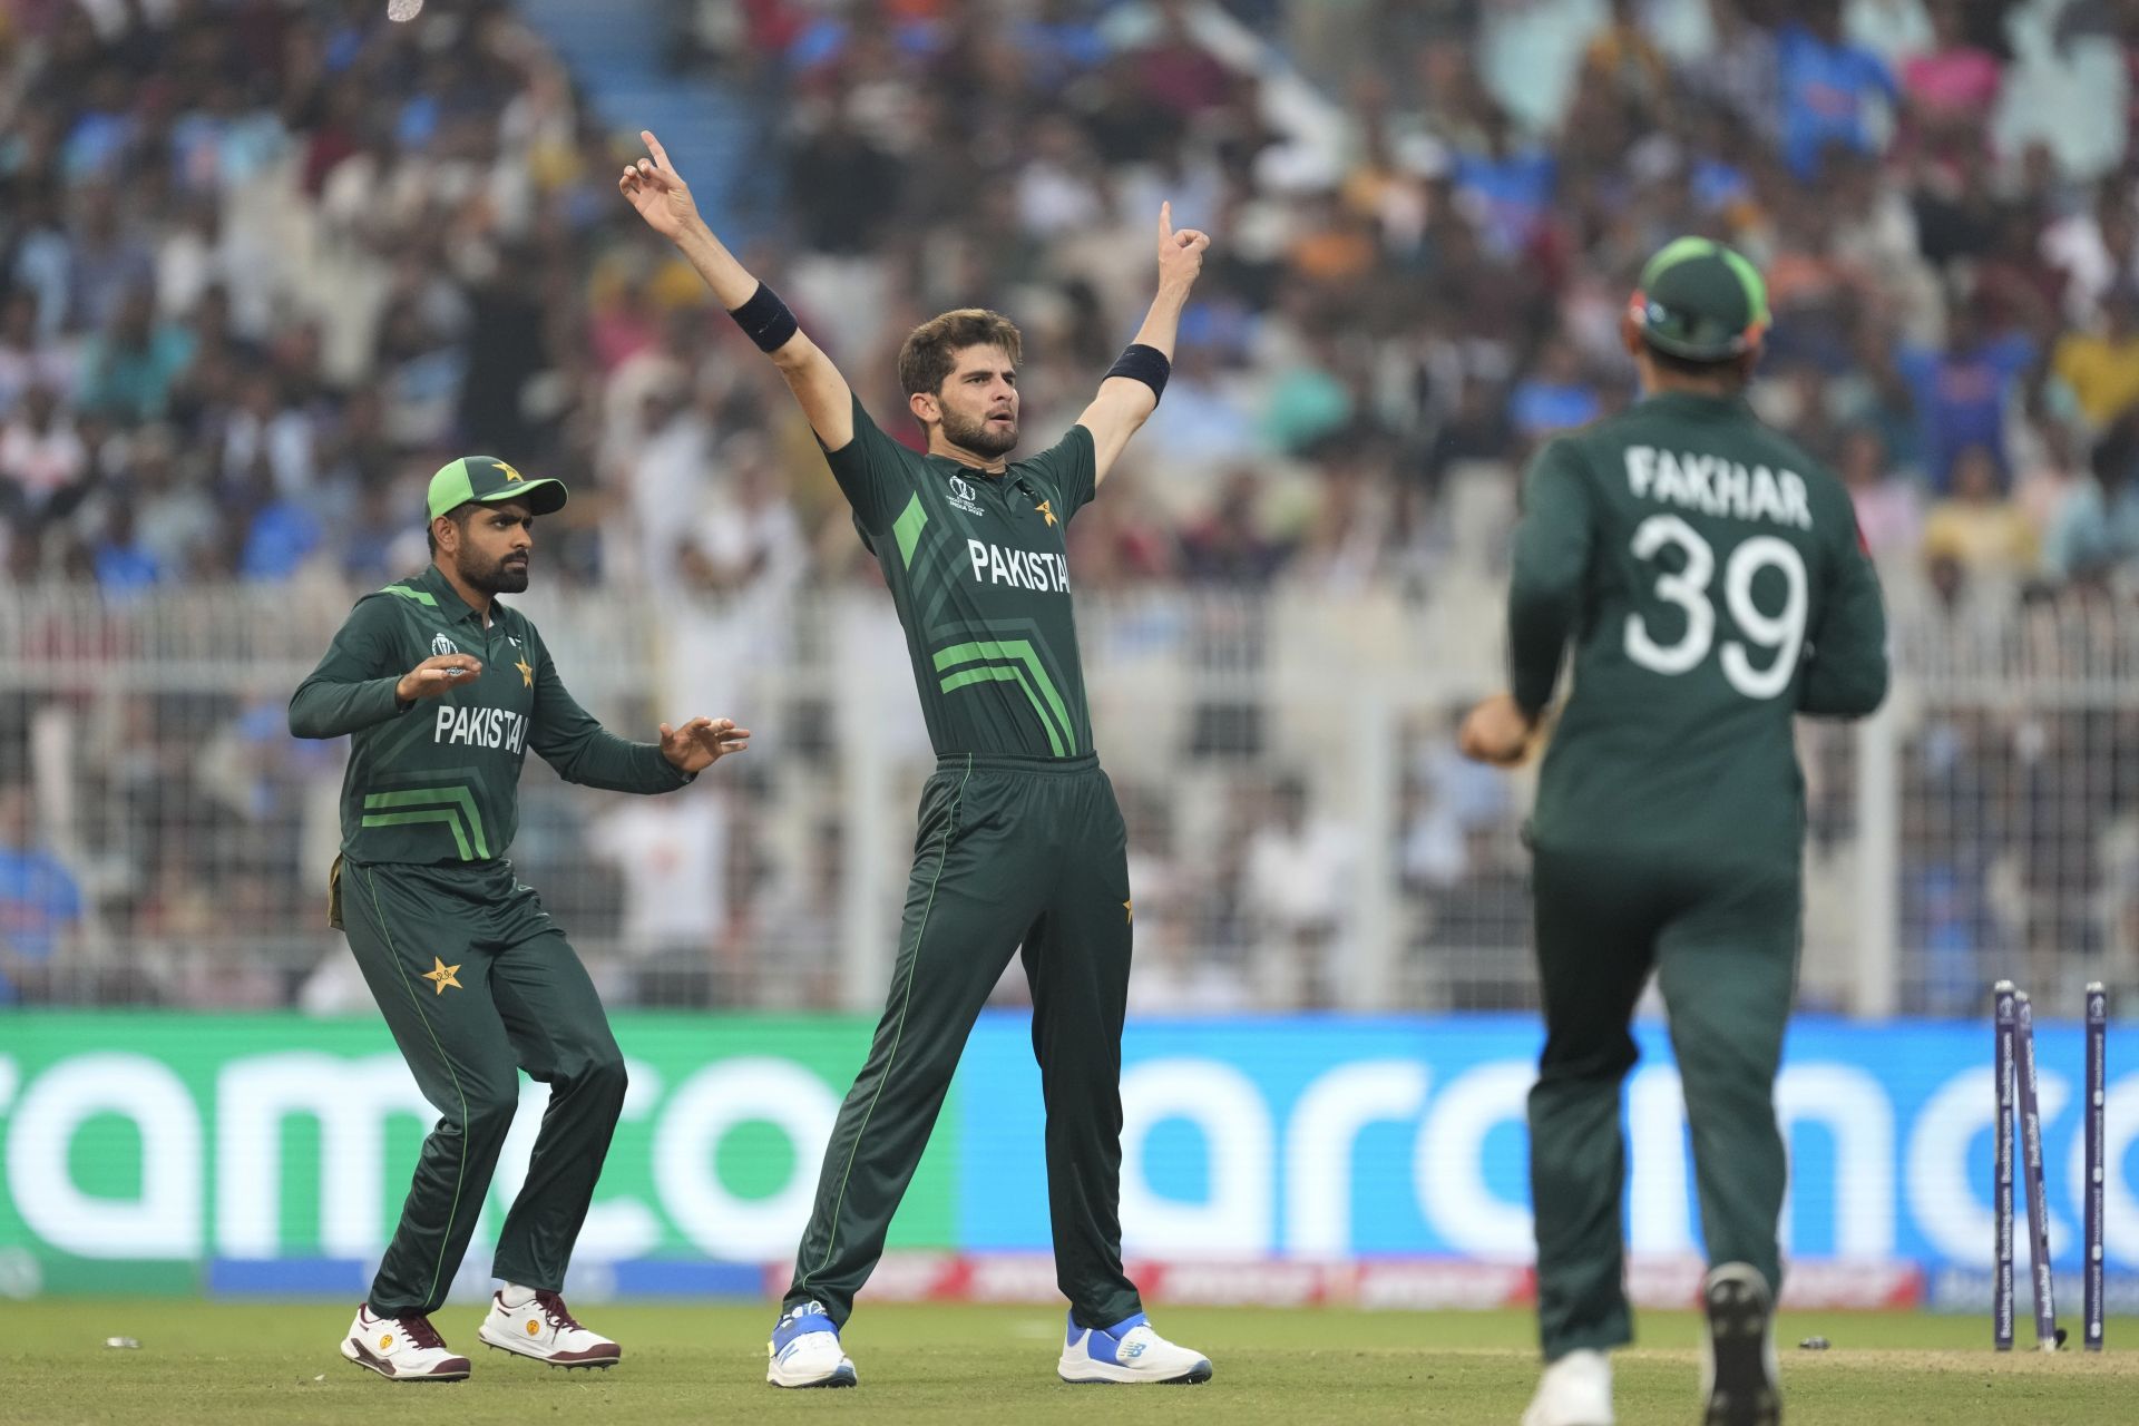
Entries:
<svg viewBox="0 0 2139 1426">
<path fill-rule="evenodd" d="M 868 1026 L 620 1016 L 616 1035 L 631 1095 L 575 1276 L 597 1291 L 757 1291 L 764 1266 L 794 1251 Z M 1698 1216 L 1677 1071 L 1660 1026 L 1638 1039 L 1628 1238 L 1638 1261 L 1683 1264 L 1698 1251 Z M 2107 1255 L 2130 1270 L 2139 1069 L 2118 1073 L 2128 1060 L 2115 1039 Z M 1390 1283 L 1482 1264 L 1472 1272 L 1484 1276 L 1448 1278 L 1448 1291 L 1519 1298 L 1523 1274 L 1508 1266 L 1529 1251 L 1523 1097 L 1536 1048 L 1538 1028 L 1517 1016 L 1134 1024 L 1127 1255 L 1219 1274 L 1232 1287 L 1217 1296 L 1401 1300 Z M 1861 1266 L 1874 1276 L 1857 1291 L 1874 1281 L 1884 1283 L 1874 1296 L 1908 1296 L 1917 1289 L 1893 1287 L 1906 1268 L 1906 1283 L 1955 1281 L 1957 1296 L 1972 1293 L 1966 1274 L 1985 1268 L 1991 1244 L 1987 1050 L 1974 1024 L 1795 1026 L 1778 1101 L 1795 1174 L 1786 1234 L 1807 1283 Z M 2051 1242 L 2068 1257 L 2079 1240 L 2077 1028 L 2043 1026 L 2041 1050 Z M 471 1251 L 475 1274 L 524 1174 L 543 1092 L 526 1086 Z M 430 1120 L 376 1022 L 6 1016 L 0 1293 L 353 1287 Z M 888 1266 L 873 1291 L 990 1296 L 988 1283 L 1018 1283 L 1044 1293 L 1050 1274 L 1031 1259 L 1046 1231 L 1031 1041 L 1020 1016 L 988 1016 L 894 1225 L 892 1249 L 913 1257 Z"/>
</svg>

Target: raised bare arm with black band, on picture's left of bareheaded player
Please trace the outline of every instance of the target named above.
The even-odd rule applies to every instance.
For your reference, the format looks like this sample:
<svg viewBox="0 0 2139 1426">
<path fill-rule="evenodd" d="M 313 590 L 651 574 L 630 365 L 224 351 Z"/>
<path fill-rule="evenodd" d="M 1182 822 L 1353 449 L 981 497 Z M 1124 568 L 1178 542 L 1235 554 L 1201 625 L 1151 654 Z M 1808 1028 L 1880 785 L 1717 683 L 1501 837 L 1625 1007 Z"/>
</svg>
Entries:
<svg viewBox="0 0 2139 1426">
<path fill-rule="evenodd" d="M 706 220 L 697 214 L 691 186 L 676 173 L 667 150 L 652 130 L 642 128 L 640 139 L 652 158 L 640 158 L 616 180 L 618 192 L 646 218 L 646 227 L 676 244 L 697 276 L 706 280 L 714 301 L 727 308 L 751 340 L 781 368 L 787 389 L 796 393 L 802 415 L 828 451 L 836 451 L 853 440 L 853 391 L 847 378 L 832 366 L 832 357 L 796 327 L 770 286 L 749 274 L 727 250 Z"/>
</svg>

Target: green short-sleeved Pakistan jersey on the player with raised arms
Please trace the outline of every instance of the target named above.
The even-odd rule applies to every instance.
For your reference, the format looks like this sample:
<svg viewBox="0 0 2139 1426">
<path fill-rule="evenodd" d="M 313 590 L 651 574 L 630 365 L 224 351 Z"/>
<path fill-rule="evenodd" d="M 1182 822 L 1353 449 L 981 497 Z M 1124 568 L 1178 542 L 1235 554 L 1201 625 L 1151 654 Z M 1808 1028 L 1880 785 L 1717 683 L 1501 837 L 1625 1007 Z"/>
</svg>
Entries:
<svg viewBox="0 0 2139 1426">
<path fill-rule="evenodd" d="M 1063 547 L 1097 483 L 1091 432 L 988 475 L 905 449 L 856 400 L 826 460 L 892 588 L 937 755 L 1091 753 Z"/>
</svg>

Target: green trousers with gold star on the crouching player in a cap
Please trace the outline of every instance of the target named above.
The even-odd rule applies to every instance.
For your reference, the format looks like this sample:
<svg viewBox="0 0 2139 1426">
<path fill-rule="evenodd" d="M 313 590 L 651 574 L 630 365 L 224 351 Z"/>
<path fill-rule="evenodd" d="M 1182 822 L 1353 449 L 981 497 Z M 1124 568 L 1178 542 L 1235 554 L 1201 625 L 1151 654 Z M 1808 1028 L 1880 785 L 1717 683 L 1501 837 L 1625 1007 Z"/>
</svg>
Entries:
<svg viewBox="0 0 2139 1426">
<path fill-rule="evenodd" d="M 520 1107 L 522 1069 L 550 1086 L 550 1107 L 492 1272 L 563 1289 L 625 1105 L 625 1056 L 586 966 L 503 859 L 338 862 L 334 902 L 394 1043 L 438 1110 L 372 1278 L 372 1311 L 398 1317 L 445 1302 Z"/>
</svg>

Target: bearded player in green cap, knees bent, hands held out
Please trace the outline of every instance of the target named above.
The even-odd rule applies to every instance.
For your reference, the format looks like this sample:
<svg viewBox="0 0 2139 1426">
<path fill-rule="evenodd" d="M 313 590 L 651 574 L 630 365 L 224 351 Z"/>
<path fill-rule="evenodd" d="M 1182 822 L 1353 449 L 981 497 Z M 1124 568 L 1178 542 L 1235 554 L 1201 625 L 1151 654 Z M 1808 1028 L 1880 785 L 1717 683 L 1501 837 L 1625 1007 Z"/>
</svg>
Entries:
<svg viewBox="0 0 2139 1426">
<path fill-rule="evenodd" d="M 550 1086 L 550 1105 L 498 1229 L 505 1287 L 479 1336 L 552 1366 L 620 1355 L 558 1296 L 625 1103 L 625 1060 L 563 928 L 505 859 L 528 748 L 569 782 L 665 793 L 749 746 L 727 718 L 625 742 L 565 691 L 535 624 L 496 599 L 528 586 L 535 517 L 563 505 L 563 483 L 490 455 L 438 470 L 430 569 L 359 599 L 289 701 L 297 738 L 353 735 L 327 919 L 441 1114 L 342 1340 L 344 1358 L 394 1381 L 468 1375 L 430 1313 L 490 1193 L 522 1069 Z"/>
</svg>

